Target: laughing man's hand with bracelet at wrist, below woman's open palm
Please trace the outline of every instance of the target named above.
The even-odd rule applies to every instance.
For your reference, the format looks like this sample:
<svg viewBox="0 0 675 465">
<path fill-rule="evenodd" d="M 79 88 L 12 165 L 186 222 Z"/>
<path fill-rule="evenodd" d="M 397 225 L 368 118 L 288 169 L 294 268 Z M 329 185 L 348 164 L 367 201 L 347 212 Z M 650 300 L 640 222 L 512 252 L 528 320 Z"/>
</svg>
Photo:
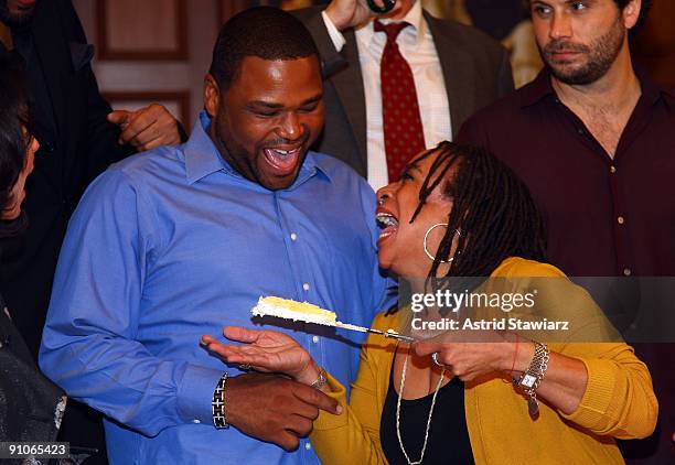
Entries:
<svg viewBox="0 0 675 465">
<path fill-rule="evenodd" d="M 247 374 L 227 379 L 227 421 L 249 436 L 275 443 L 286 451 L 309 435 L 319 410 L 340 414 L 335 399 L 287 378 Z"/>
</svg>

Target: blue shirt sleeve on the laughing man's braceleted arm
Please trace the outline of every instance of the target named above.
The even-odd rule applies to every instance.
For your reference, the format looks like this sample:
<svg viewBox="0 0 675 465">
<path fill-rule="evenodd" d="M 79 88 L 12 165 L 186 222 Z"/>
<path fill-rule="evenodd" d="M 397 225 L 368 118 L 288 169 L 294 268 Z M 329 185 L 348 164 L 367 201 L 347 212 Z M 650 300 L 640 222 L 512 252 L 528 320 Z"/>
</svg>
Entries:
<svg viewBox="0 0 675 465">
<path fill-rule="evenodd" d="M 156 249 L 149 205 L 118 167 L 89 186 L 62 247 L 40 366 L 68 396 L 153 436 L 211 422 L 223 371 L 160 359 L 135 340 Z"/>
</svg>

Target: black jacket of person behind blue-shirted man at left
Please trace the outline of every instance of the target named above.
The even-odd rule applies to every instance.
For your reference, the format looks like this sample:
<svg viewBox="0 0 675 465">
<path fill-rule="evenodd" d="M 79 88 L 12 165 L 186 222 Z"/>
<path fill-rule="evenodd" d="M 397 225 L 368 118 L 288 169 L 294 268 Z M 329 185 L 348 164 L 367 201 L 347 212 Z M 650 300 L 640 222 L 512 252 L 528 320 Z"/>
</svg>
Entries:
<svg viewBox="0 0 675 465">
<path fill-rule="evenodd" d="M 88 183 L 133 150 L 117 143 L 119 131 L 106 120 L 110 106 L 89 63 L 94 47 L 87 45 L 71 1 L 38 2 L 29 28 L 12 35 L 32 42 L 26 67 L 41 149 L 23 204 L 30 226 L 11 247 L 18 253 L 4 257 L 1 289 L 36 355 L 68 218 Z"/>
</svg>

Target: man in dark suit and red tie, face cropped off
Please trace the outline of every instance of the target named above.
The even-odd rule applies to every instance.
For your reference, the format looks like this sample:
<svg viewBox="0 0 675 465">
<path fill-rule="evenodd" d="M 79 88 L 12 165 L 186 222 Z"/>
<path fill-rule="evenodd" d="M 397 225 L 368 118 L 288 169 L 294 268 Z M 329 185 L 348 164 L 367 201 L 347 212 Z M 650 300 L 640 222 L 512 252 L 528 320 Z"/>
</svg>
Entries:
<svg viewBox="0 0 675 465">
<path fill-rule="evenodd" d="M 319 46 L 325 129 L 315 145 L 374 188 L 421 150 L 456 134 L 474 111 L 513 90 L 508 54 L 476 29 L 440 20 L 420 1 L 376 15 L 366 0 L 299 10 Z M 399 123 L 403 121 L 403 123 Z"/>
</svg>

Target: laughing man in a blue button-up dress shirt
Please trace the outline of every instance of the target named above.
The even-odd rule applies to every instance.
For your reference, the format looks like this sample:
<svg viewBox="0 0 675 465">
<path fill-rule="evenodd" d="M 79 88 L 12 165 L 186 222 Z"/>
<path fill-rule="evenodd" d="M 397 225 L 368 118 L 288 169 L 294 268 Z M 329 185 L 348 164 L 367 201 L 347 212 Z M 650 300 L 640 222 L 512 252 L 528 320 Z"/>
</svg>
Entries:
<svg viewBox="0 0 675 465">
<path fill-rule="evenodd" d="M 61 251 L 40 364 L 108 417 L 113 463 L 318 463 L 306 436 L 318 409 L 336 404 L 225 366 L 199 340 L 253 326 L 260 295 L 368 325 L 388 283 L 375 196 L 342 162 L 308 151 L 323 125 L 321 69 L 288 13 L 251 9 L 225 24 L 204 108 L 188 143 L 115 164 L 87 190 Z M 354 379 L 361 337 L 281 331 L 342 382 Z M 216 410 L 229 429 L 212 414 L 223 385 Z"/>
</svg>

